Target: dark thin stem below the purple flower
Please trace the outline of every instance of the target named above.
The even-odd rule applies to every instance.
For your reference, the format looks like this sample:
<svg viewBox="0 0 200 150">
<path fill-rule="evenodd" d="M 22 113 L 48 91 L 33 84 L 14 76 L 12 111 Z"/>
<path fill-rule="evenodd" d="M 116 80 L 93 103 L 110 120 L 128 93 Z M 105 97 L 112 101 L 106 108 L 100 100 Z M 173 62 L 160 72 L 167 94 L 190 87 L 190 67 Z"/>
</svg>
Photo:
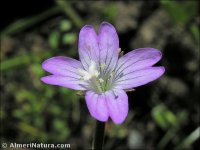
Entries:
<svg viewBox="0 0 200 150">
<path fill-rule="evenodd" d="M 104 142 L 105 122 L 96 121 L 92 150 L 102 150 Z"/>
</svg>

